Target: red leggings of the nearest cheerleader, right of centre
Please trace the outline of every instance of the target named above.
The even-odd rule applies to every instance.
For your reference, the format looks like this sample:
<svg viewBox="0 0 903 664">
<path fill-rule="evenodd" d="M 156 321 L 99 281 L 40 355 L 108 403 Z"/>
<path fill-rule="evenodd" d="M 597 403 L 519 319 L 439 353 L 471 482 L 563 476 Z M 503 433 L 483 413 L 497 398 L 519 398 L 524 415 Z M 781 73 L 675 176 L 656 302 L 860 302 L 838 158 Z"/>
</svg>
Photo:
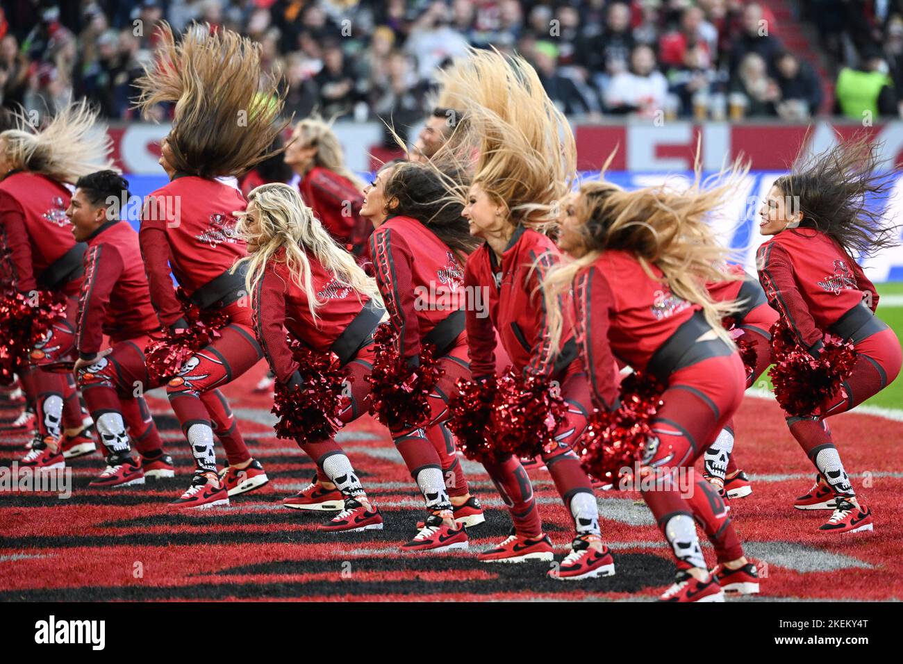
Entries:
<svg viewBox="0 0 903 664">
<path fill-rule="evenodd" d="M 688 528 L 691 519 L 703 527 L 719 561 L 743 556 L 724 501 L 709 482 L 696 479 L 693 464 L 740 407 L 745 385 L 738 353 L 677 369 L 668 379 L 664 405 L 653 422 L 656 438 L 650 441 L 642 465 L 656 482 L 642 490 L 643 498 L 675 557 L 689 566 L 704 565 L 695 530 Z M 686 473 L 685 490 L 667 481 L 677 471 Z"/>
</svg>

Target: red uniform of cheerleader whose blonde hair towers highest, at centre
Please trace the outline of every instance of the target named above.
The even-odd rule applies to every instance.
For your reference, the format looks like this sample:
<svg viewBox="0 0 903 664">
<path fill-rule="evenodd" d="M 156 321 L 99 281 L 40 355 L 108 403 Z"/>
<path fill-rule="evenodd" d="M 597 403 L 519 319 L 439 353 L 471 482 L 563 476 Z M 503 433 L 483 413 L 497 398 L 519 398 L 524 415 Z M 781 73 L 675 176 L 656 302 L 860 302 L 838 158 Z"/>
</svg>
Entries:
<svg viewBox="0 0 903 664">
<path fill-rule="evenodd" d="M 515 230 L 501 261 L 487 244 L 470 255 L 464 274 L 465 290 L 487 297 L 482 307 L 467 309 L 470 370 L 476 379 L 494 378 L 497 340 L 500 340 L 515 369 L 560 383 L 568 411 L 556 432 L 557 447 L 543 453 L 542 457 L 564 504 L 572 511 L 578 532 L 585 530 L 598 535 L 595 498 L 591 500 L 591 514 L 582 515 L 587 521 L 584 527 L 580 525 L 580 510 L 577 510 L 584 499 L 574 502 L 580 494 L 591 497 L 594 494 L 592 483 L 571 448 L 586 426 L 590 394 L 586 373 L 577 358 L 570 303 L 563 303 L 563 334 L 558 354 L 550 353 L 541 286 L 559 258 L 560 252 L 550 238 L 524 226 Z M 522 481 L 526 472 L 520 460 L 510 455 L 486 468 L 511 506 L 509 511 L 517 534 L 528 539 L 541 537 L 542 522 L 535 508 L 530 482 L 528 479 Z"/>
</svg>

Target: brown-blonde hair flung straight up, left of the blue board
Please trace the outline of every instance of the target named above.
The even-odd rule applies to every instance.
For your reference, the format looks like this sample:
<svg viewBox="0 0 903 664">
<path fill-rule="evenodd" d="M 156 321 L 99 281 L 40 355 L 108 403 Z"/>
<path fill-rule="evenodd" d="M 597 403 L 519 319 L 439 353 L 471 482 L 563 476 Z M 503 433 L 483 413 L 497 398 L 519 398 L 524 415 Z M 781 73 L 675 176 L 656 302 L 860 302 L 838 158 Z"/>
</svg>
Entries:
<svg viewBox="0 0 903 664">
<path fill-rule="evenodd" d="M 166 140 L 177 172 L 239 176 L 276 154 L 271 145 L 289 123 L 278 119 L 278 80 L 278 72 L 264 72 L 260 44 L 247 37 L 196 25 L 176 43 L 164 23 L 157 56 L 135 81 L 135 106 L 147 116 L 157 103 L 175 103 Z"/>
</svg>

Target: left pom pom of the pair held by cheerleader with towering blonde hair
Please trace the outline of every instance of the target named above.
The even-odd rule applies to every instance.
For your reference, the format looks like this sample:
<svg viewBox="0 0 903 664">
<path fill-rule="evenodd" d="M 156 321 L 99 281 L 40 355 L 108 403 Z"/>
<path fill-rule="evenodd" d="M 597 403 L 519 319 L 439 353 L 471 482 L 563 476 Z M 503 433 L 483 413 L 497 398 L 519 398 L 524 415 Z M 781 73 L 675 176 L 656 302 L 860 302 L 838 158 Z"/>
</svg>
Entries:
<svg viewBox="0 0 903 664">
<path fill-rule="evenodd" d="M 449 399 L 449 419 L 445 423 L 455 435 L 458 447 L 470 461 L 496 460 L 495 446 L 489 435 L 492 403 L 496 397 L 495 380 L 460 379 L 458 392 Z"/>
</svg>

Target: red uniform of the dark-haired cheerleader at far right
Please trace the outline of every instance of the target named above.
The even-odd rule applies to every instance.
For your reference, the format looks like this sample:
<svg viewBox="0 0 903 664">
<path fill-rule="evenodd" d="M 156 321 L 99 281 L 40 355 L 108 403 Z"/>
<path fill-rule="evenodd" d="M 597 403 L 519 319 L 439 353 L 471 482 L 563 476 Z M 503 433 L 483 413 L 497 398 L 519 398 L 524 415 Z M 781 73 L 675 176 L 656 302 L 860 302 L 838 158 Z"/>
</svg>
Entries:
<svg viewBox="0 0 903 664">
<path fill-rule="evenodd" d="M 897 378 L 897 335 L 875 316 L 878 293 L 862 268 L 833 239 L 816 229 L 786 229 L 759 247 L 759 279 L 768 302 L 801 346 L 821 351 L 824 333 L 852 341 L 857 361 L 844 381 L 845 395 L 828 399 L 819 416 L 787 416 L 787 426 L 835 494 L 854 495 L 833 444 L 827 416 L 843 413 Z"/>
</svg>

